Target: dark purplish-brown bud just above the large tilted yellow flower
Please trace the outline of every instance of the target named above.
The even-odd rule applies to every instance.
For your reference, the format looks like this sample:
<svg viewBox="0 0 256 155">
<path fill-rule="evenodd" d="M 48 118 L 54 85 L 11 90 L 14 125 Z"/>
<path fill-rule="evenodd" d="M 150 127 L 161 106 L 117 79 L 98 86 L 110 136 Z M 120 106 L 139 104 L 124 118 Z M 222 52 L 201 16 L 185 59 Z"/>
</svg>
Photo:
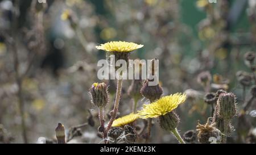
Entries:
<svg viewBox="0 0 256 155">
<path fill-rule="evenodd" d="M 148 81 L 150 79 L 147 79 L 141 88 L 141 94 L 149 99 L 151 102 L 154 102 L 156 99 L 159 99 L 161 95 L 163 94 L 163 89 L 161 86 L 156 85 L 156 86 L 148 86 Z"/>
</svg>

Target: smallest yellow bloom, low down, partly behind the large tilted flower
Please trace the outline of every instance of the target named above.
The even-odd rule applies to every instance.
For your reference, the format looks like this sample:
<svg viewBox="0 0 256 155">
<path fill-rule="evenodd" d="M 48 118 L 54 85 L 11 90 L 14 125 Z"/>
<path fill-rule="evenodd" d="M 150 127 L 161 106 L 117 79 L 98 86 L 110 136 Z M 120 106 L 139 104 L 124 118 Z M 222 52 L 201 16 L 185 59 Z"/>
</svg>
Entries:
<svg viewBox="0 0 256 155">
<path fill-rule="evenodd" d="M 122 118 L 115 119 L 112 124 L 112 127 L 120 127 L 129 123 L 133 123 L 138 118 L 138 114 L 131 113 L 129 115 L 123 116 Z"/>
</svg>

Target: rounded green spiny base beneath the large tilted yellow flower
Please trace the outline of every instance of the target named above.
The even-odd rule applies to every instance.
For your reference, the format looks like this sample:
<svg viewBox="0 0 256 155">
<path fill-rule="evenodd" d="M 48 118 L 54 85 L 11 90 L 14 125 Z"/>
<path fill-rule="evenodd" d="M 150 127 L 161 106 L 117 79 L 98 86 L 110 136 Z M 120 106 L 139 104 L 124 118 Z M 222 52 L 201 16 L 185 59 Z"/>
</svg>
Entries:
<svg viewBox="0 0 256 155">
<path fill-rule="evenodd" d="M 179 122 L 179 116 L 174 111 L 168 112 L 166 115 L 159 116 L 160 127 L 166 131 L 174 131 Z"/>
</svg>

